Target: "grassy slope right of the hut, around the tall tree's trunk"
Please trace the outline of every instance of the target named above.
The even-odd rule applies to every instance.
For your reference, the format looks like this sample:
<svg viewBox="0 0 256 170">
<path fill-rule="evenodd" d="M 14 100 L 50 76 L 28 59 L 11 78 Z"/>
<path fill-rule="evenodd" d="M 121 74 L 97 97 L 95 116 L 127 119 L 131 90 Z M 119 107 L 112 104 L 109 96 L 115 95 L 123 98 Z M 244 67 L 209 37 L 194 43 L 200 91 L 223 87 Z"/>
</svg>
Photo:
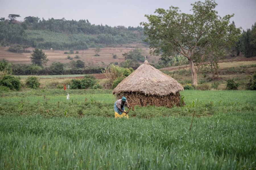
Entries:
<svg viewBox="0 0 256 170">
<path fill-rule="evenodd" d="M 245 90 L 246 84 L 249 82 L 253 73 L 256 72 L 256 61 L 233 61 L 219 63 L 219 78 L 216 82 L 219 82 L 218 90 L 226 89 L 226 80 L 232 79 L 238 82 L 239 90 Z M 164 73 L 172 76 L 182 85 L 186 83 L 192 83 L 190 68 L 177 69 L 174 71 L 163 70 Z M 217 75 L 216 75 L 217 76 Z M 200 84 L 207 84 L 212 88 L 214 81 L 211 79 L 209 69 L 202 67 L 198 72 L 197 82 Z"/>
</svg>

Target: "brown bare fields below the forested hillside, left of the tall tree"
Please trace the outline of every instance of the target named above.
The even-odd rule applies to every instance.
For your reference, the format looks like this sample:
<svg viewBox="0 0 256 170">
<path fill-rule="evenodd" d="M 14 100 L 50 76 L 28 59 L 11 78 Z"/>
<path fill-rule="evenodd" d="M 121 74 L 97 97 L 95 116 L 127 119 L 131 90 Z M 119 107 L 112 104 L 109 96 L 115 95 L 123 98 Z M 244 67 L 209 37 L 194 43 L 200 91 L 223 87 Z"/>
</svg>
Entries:
<svg viewBox="0 0 256 170">
<path fill-rule="evenodd" d="M 100 48 L 100 52 L 98 53 L 100 56 L 94 56 L 95 55 L 95 48 L 89 48 L 88 50 L 78 50 L 79 54 L 64 54 L 64 52 L 69 52 L 69 50 L 43 50 L 43 52 L 47 55 L 47 58 L 49 61 L 47 62 L 47 65 L 51 65 L 53 62 L 61 62 L 61 63 L 69 63 L 72 60 L 67 59 L 67 56 L 71 56 L 74 61 L 76 60 L 82 60 L 85 62 L 86 66 L 101 66 L 106 67 L 110 63 L 118 62 L 120 64 L 122 61 L 124 61 L 124 57 L 122 54 L 125 52 L 129 52 L 135 49 L 123 46 L 117 46 L 117 47 L 106 47 L 106 48 Z M 142 55 L 148 56 L 149 63 L 152 63 L 154 60 L 155 63 L 158 62 L 159 56 L 150 56 L 149 48 L 143 48 L 142 49 Z M 33 51 L 33 48 L 29 48 L 28 50 Z M 74 50 L 74 53 L 76 50 Z M 32 53 L 14 53 L 9 52 L 8 47 L 0 47 L 0 60 L 1 59 L 7 59 L 11 63 L 31 63 L 30 56 Z M 79 58 L 75 59 L 75 56 L 78 55 Z M 117 55 L 117 58 L 114 59 L 113 55 Z M 90 63 L 90 64 L 89 64 Z"/>
</svg>

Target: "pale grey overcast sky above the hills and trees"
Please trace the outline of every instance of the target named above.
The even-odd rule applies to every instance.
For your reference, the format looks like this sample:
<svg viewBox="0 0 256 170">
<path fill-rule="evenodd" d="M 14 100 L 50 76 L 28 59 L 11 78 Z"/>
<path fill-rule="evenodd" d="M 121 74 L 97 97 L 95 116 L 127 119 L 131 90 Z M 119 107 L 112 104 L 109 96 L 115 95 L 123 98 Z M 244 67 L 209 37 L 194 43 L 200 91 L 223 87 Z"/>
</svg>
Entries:
<svg viewBox="0 0 256 170">
<path fill-rule="evenodd" d="M 184 13 L 191 13 L 194 0 L 0 0 L 0 17 L 19 14 L 22 20 L 26 16 L 38 16 L 66 20 L 88 19 L 91 24 L 125 27 L 139 26 L 146 21 L 145 14 L 153 14 L 156 8 L 168 9 L 171 5 L 179 7 Z M 203 0 L 201 0 L 203 1 Z M 216 0 L 216 10 L 220 16 L 235 14 L 237 27 L 251 28 L 256 22 L 256 0 Z"/>
</svg>

